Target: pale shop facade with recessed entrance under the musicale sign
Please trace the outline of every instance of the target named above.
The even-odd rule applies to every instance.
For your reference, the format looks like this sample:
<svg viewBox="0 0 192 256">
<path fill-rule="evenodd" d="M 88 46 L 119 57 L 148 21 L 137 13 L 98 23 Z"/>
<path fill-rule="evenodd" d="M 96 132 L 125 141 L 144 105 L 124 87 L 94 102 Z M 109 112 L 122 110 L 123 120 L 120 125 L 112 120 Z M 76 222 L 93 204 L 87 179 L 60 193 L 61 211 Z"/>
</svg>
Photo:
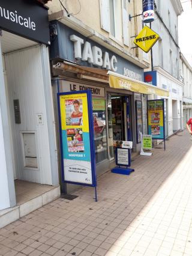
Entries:
<svg viewBox="0 0 192 256">
<path fill-rule="evenodd" d="M 55 187 L 44 204 L 59 197 L 60 189 L 48 10 L 38 1 L 1 0 L 0 23 L 0 210 L 11 209 L 11 222 L 42 206 L 41 184 Z M 32 199 L 29 187 L 34 201 L 22 208 L 20 202 Z"/>
</svg>

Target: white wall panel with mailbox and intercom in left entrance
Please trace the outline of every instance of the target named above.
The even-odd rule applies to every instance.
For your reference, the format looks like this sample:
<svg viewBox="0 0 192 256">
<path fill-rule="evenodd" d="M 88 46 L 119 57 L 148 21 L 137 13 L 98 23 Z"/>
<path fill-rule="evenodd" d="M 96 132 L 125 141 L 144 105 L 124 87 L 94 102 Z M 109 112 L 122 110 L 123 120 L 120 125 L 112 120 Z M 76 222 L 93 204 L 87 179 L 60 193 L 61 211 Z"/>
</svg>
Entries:
<svg viewBox="0 0 192 256">
<path fill-rule="evenodd" d="M 52 184 L 40 46 L 8 53 L 5 55 L 5 69 L 17 178 Z M 20 102 L 21 124 L 16 124 L 14 121 L 14 99 L 19 99 Z M 43 114 L 43 124 L 38 124 L 38 114 Z M 38 169 L 24 167 L 22 131 L 35 132 Z"/>
</svg>

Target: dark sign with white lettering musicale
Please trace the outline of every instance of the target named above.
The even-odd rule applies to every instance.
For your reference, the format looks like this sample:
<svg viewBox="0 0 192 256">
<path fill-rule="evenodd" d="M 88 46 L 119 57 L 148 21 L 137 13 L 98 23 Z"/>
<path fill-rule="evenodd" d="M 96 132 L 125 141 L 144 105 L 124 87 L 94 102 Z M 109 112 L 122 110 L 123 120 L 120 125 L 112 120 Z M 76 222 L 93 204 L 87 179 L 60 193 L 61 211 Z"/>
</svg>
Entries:
<svg viewBox="0 0 192 256">
<path fill-rule="evenodd" d="M 8 32 L 50 44 L 48 10 L 31 0 L 0 0 L 0 26 Z"/>
</svg>

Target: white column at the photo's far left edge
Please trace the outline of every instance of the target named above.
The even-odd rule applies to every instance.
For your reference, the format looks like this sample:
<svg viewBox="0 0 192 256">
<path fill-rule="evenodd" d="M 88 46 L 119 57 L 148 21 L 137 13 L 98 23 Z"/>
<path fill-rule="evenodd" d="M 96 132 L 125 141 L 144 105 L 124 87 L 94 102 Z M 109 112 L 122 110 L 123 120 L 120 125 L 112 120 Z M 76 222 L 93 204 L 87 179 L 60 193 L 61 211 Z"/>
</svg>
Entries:
<svg viewBox="0 0 192 256">
<path fill-rule="evenodd" d="M 0 210 L 16 206 L 10 138 L 0 38 Z"/>
</svg>

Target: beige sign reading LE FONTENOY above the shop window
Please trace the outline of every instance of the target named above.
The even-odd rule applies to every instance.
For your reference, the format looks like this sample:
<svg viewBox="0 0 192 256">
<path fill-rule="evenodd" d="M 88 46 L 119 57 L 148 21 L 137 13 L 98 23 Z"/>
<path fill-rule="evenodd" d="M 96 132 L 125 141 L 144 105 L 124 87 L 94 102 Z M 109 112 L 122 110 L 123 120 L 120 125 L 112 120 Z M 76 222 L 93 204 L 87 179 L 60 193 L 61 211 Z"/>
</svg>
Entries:
<svg viewBox="0 0 192 256">
<path fill-rule="evenodd" d="M 85 91 L 90 90 L 92 96 L 96 97 L 105 97 L 105 90 L 103 87 L 94 87 L 92 85 L 86 85 L 86 84 L 79 84 L 76 82 L 70 82 L 70 81 L 61 81 L 62 84 L 62 91 Z"/>
</svg>

